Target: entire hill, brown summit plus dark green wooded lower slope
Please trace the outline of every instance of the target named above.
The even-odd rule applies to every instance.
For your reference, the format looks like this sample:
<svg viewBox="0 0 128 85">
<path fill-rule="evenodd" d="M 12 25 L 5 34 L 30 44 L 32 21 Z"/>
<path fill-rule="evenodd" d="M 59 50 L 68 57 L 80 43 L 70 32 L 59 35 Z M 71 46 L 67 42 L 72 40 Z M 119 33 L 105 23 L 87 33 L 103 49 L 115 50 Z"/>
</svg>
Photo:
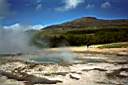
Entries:
<svg viewBox="0 0 128 85">
<path fill-rule="evenodd" d="M 38 47 L 82 46 L 128 41 L 128 20 L 84 17 L 46 27 L 33 37 Z"/>
</svg>

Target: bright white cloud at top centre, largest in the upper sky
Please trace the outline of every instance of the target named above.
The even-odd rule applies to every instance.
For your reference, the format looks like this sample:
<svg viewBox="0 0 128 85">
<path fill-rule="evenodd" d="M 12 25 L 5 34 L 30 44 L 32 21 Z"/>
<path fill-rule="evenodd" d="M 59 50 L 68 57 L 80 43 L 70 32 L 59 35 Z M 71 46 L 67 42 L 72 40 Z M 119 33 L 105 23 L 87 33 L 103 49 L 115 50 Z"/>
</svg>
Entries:
<svg viewBox="0 0 128 85">
<path fill-rule="evenodd" d="M 84 0 L 64 0 L 64 6 L 56 8 L 58 11 L 67 11 L 76 8 L 79 4 L 84 3 Z"/>
</svg>

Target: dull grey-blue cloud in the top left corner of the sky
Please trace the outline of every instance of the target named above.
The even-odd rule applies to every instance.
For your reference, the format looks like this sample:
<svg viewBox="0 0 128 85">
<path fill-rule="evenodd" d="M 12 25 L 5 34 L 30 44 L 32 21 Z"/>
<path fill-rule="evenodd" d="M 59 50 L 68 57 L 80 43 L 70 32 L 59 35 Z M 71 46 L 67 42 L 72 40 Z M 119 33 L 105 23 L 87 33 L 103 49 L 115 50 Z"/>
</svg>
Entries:
<svg viewBox="0 0 128 85">
<path fill-rule="evenodd" d="M 7 0 L 0 0 L 0 18 L 6 17 L 9 14 L 9 3 Z"/>
</svg>

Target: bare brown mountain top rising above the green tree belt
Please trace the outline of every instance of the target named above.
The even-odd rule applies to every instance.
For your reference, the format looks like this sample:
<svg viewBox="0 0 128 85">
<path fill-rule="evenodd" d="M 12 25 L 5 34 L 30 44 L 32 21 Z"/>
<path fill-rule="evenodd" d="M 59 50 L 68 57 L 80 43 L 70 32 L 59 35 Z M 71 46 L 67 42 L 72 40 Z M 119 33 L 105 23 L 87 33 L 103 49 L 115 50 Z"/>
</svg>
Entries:
<svg viewBox="0 0 128 85">
<path fill-rule="evenodd" d="M 104 20 L 96 17 L 82 17 L 66 23 L 48 26 L 43 30 L 71 30 L 78 28 L 128 28 L 128 19 Z"/>
</svg>

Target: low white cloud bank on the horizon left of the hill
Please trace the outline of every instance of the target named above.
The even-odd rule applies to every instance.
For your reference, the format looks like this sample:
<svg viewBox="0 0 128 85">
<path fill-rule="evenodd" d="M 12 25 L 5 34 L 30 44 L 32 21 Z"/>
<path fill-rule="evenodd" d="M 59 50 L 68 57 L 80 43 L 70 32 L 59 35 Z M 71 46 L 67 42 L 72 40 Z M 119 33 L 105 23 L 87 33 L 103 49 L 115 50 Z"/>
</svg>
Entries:
<svg viewBox="0 0 128 85">
<path fill-rule="evenodd" d="M 13 24 L 13 25 L 9 25 L 9 26 L 3 26 L 4 29 L 13 29 L 13 30 L 30 30 L 30 29 L 34 29 L 34 30 L 40 30 L 42 28 L 44 28 L 43 25 L 21 25 L 19 23 Z"/>
</svg>

